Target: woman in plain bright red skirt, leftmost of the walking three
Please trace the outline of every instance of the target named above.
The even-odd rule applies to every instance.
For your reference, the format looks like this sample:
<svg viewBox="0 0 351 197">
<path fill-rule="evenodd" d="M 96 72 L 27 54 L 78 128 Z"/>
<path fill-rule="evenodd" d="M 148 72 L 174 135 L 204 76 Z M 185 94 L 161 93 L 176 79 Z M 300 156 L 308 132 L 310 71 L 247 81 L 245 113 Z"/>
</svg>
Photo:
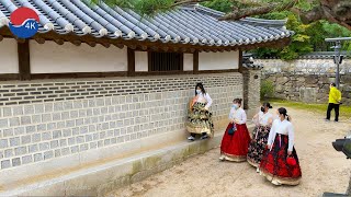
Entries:
<svg viewBox="0 0 351 197">
<path fill-rule="evenodd" d="M 220 143 L 220 161 L 242 162 L 247 160 L 250 142 L 249 130 L 246 126 L 247 116 L 241 108 L 241 99 L 236 99 L 229 113 L 229 125 Z"/>
</svg>

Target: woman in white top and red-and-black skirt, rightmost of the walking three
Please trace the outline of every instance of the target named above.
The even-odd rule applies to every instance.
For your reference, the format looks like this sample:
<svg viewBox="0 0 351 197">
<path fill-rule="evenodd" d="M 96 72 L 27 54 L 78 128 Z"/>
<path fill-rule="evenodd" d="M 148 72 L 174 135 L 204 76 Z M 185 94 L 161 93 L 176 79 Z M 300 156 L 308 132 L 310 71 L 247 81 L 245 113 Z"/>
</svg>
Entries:
<svg viewBox="0 0 351 197">
<path fill-rule="evenodd" d="M 298 185 L 302 172 L 294 148 L 294 128 L 287 112 L 278 109 L 280 119 L 273 121 L 267 149 L 260 163 L 260 174 L 274 185 Z"/>
</svg>

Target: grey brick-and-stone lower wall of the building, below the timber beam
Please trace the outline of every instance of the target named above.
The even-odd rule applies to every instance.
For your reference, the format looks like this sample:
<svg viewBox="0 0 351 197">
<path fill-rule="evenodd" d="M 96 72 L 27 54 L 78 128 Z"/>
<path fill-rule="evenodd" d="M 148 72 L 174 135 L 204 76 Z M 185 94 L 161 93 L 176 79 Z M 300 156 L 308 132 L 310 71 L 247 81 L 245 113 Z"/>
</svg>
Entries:
<svg viewBox="0 0 351 197">
<path fill-rule="evenodd" d="M 2 82 L 0 176 L 9 178 L 0 185 L 20 172 L 25 178 L 111 157 L 143 139 L 156 146 L 162 135 L 185 135 L 196 82 L 214 101 L 215 123 L 227 119 L 234 97 L 242 97 L 238 72 Z"/>
</svg>

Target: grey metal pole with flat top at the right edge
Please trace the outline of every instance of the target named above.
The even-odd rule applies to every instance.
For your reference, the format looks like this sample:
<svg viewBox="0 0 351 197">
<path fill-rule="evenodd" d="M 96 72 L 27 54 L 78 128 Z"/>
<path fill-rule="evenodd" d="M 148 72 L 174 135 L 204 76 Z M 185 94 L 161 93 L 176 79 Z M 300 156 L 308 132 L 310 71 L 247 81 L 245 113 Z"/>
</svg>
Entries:
<svg viewBox="0 0 351 197">
<path fill-rule="evenodd" d="M 336 84 L 337 88 L 340 90 L 340 63 L 342 62 L 342 58 L 340 56 L 341 51 L 341 42 L 344 40 L 351 40 L 351 37 L 336 37 L 336 38 L 326 38 L 326 42 L 335 43 L 333 48 L 336 55 L 335 55 L 335 63 L 337 65 L 337 71 L 336 71 Z"/>
</svg>

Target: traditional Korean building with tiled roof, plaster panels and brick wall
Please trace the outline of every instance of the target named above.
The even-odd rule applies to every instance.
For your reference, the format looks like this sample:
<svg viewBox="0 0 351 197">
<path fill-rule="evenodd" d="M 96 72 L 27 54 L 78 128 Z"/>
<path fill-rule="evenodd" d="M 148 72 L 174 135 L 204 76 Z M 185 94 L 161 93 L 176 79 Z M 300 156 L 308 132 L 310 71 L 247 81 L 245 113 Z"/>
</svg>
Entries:
<svg viewBox="0 0 351 197">
<path fill-rule="evenodd" d="M 19 7 L 39 15 L 31 39 L 9 31 Z M 9 183 L 185 140 L 197 82 L 220 132 L 233 99 L 258 107 L 260 71 L 242 67 L 241 51 L 287 45 L 292 32 L 286 21 L 222 15 L 197 4 L 148 19 L 81 0 L 0 0 L 0 194 L 26 194 Z M 68 185 L 50 195 L 81 194 Z"/>
</svg>

